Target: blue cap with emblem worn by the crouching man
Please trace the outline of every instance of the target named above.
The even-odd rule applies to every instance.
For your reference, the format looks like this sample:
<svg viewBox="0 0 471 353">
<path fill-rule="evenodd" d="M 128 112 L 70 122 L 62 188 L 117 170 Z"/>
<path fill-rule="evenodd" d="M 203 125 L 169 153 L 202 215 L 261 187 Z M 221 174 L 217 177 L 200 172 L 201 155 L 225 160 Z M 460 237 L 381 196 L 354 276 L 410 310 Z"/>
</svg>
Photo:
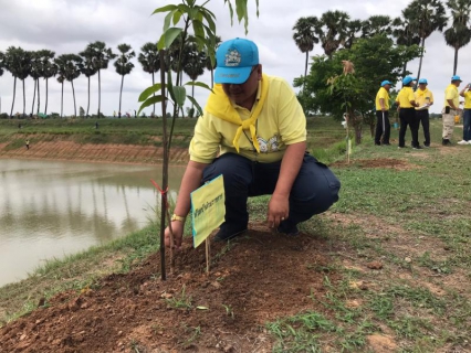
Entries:
<svg viewBox="0 0 471 353">
<path fill-rule="evenodd" d="M 243 84 L 259 64 L 259 49 L 245 39 L 229 40 L 219 45 L 216 63 L 214 83 Z"/>
</svg>

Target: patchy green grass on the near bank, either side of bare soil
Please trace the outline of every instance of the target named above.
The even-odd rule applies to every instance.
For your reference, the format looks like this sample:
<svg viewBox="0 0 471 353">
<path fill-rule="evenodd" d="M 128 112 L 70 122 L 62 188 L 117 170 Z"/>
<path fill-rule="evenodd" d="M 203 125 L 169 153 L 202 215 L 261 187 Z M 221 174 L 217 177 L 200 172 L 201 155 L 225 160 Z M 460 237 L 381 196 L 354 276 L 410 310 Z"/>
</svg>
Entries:
<svg viewBox="0 0 471 353">
<path fill-rule="evenodd" d="M 432 141 L 441 139 L 440 122 L 432 121 Z M 343 133 L 338 122 L 310 120 L 310 140 L 321 143 L 314 153 L 325 162 L 339 158 L 339 143 L 333 142 Z M 456 136 L 460 133 L 457 129 Z M 326 345 L 359 352 L 377 332 L 387 336 L 395 347 L 390 351 L 470 349 L 470 150 L 439 145 L 423 151 L 378 148 L 367 137 L 355 149 L 350 165 L 333 168 L 343 183 L 341 201 L 302 225 L 302 231 L 332 243 L 333 265 L 312 266 L 324 274 L 328 292 L 323 304 L 328 314 L 302 312 L 268 323 L 276 352 L 320 352 Z M 378 159 L 401 164 L 366 168 Z M 252 199 L 251 217 L 263 220 L 265 207 L 266 197 Z M 105 272 L 103 261 L 114 264 L 108 270 L 127 270 L 157 249 L 151 234 L 146 228 L 112 245 L 51 261 L 30 279 L 1 288 L 1 302 L 14 299 L 8 299 L 8 312 L 0 320 L 33 309 L 40 297 L 93 286 L 94 278 Z M 371 261 L 379 264 L 377 269 L 368 268 Z M 81 274 L 81 268 L 90 271 Z M 343 279 L 331 281 L 332 271 Z"/>
</svg>

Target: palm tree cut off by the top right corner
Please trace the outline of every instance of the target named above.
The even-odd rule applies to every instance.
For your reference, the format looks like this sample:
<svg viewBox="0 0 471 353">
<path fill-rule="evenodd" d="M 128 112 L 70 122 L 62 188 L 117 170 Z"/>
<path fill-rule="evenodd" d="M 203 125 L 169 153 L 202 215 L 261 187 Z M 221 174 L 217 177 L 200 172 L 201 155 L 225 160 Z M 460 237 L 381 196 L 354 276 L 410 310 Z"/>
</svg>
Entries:
<svg viewBox="0 0 471 353">
<path fill-rule="evenodd" d="M 454 49 L 453 75 L 457 74 L 458 51 L 471 41 L 470 12 L 471 0 L 448 0 L 452 26 L 444 31 L 444 40 Z"/>
</svg>

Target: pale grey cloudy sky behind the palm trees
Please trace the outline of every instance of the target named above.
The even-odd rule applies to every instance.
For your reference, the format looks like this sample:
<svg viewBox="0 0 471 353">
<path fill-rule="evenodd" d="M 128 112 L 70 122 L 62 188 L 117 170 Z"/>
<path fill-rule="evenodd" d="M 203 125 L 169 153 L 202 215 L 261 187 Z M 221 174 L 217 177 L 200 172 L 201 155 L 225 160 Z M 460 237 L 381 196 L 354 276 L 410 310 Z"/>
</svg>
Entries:
<svg viewBox="0 0 471 353">
<path fill-rule="evenodd" d="M 146 42 L 156 42 L 163 29 L 163 14 L 150 15 L 161 6 L 179 3 L 179 0 L 0 0 L 0 51 L 9 46 L 21 46 L 28 51 L 48 49 L 56 55 L 78 53 L 95 41 L 103 41 L 117 52 L 121 43 L 128 43 L 136 52 Z M 199 1 L 202 3 L 202 1 Z M 234 2 L 234 1 L 232 1 Z M 293 83 L 304 72 L 305 55 L 299 51 L 292 40 L 292 28 L 301 17 L 321 17 L 327 10 L 346 11 L 352 19 L 367 19 L 373 14 L 388 14 L 398 17 L 410 0 L 395 0 L 388 2 L 366 0 L 260 0 L 260 17 L 257 18 L 254 0 L 249 0 L 249 34 L 260 50 L 260 60 L 268 74 L 284 77 Z M 231 26 L 229 9 L 222 0 L 209 1 L 207 6 L 217 17 L 218 34 L 222 40 L 234 36 L 244 38 L 243 25 Z M 433 113 L 441 110 L 443 89 L 450 82 L 453 68 L 453 50 L 446 45 L 441 33 L 433 33 L 426 41 L 427 52 L 423 57 L 421 77 L 429 81 L 429 88 L 436 97 Z M 322 54 L 320 46 L 312 55 Z M 471 82 L 471 74 L 464 71 L 471 62 L 471 50 L 460 51 L 458 74 L 465 83 Z M 411 62 L 408 69 L 418 71 L 418 61 Z M 205 73 L 199 81 L 209 84 L 210 74 Z M 143 89 L 151 84 L 151 76 L 143 72 L 135 60 L 135 68 L 125 76 L 122 111 L 133 113 L 138 109 L 137 97 Z M 379 84 L 379 83 L 378 83 Z M 121 76 L 115 72 L 113 64 L 102 73 L 102 111 L 113 115 L 118 110 Z M 74 82 L 77 109 L 86 109 L 87 81 L 81 76 Z M 27 113 L 31 111 L 33 81 L 25 79 Z M 41 111 L 44 109 L 45 84 L 41 82 Z M 91 111 L 96 111 L 98 105 L 97 76 L 91 83 Z M 49 84 L 48 113 L 61 109 L 61 85 L 55 78 Z M 206 104 L 208 93 L 203 88 L 196 88 L 195 97 L 200 105 Z M 13 79 L 6 72 L 0 77 L 1 111 L 10 113 L 13 96 Z M 13 113 L 22 111 L 22 88 L 17 85 L 17 95 Z M 147 110 L 149 113 L 150 109 Z M 64 84 L 64 115 L 73 114 L 72 88 L 70 83 Z"/>
</svg>

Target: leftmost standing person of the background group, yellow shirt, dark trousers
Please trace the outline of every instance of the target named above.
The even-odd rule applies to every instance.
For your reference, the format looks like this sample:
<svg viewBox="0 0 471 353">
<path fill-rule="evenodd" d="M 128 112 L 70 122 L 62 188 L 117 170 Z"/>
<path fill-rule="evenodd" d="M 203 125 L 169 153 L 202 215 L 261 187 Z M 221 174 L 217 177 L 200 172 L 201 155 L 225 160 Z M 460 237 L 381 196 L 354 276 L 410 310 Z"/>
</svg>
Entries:
<svg viewBox="0 0 471 353">
<path fill-rule="evenodd" d="M 389 81 L 381 82 L 381 87 L 376 94 L 376 146 L 390 146 L 389 136 L 391 126 L 389 124 L 389 89 L 391 88 L 391 85 L 393 84 Z"/>
</svg>

